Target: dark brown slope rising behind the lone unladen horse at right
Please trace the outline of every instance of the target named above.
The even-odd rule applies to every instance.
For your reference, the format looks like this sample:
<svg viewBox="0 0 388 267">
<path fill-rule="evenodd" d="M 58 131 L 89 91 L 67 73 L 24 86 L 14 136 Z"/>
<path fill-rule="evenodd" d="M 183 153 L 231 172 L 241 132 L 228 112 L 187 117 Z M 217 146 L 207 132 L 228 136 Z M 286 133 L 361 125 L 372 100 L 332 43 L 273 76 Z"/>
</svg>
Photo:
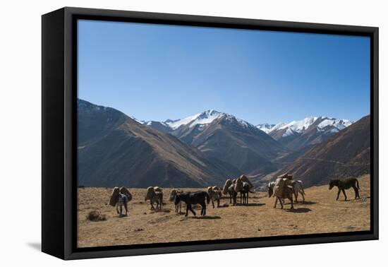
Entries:
<svg viewBox="0 0 388 267">
<path fill-rule="evenodd" d="M 370 173 L 370 116 L 339 131 L 277 174 L 289 172 L 305 186 Z"/>
</svg>

